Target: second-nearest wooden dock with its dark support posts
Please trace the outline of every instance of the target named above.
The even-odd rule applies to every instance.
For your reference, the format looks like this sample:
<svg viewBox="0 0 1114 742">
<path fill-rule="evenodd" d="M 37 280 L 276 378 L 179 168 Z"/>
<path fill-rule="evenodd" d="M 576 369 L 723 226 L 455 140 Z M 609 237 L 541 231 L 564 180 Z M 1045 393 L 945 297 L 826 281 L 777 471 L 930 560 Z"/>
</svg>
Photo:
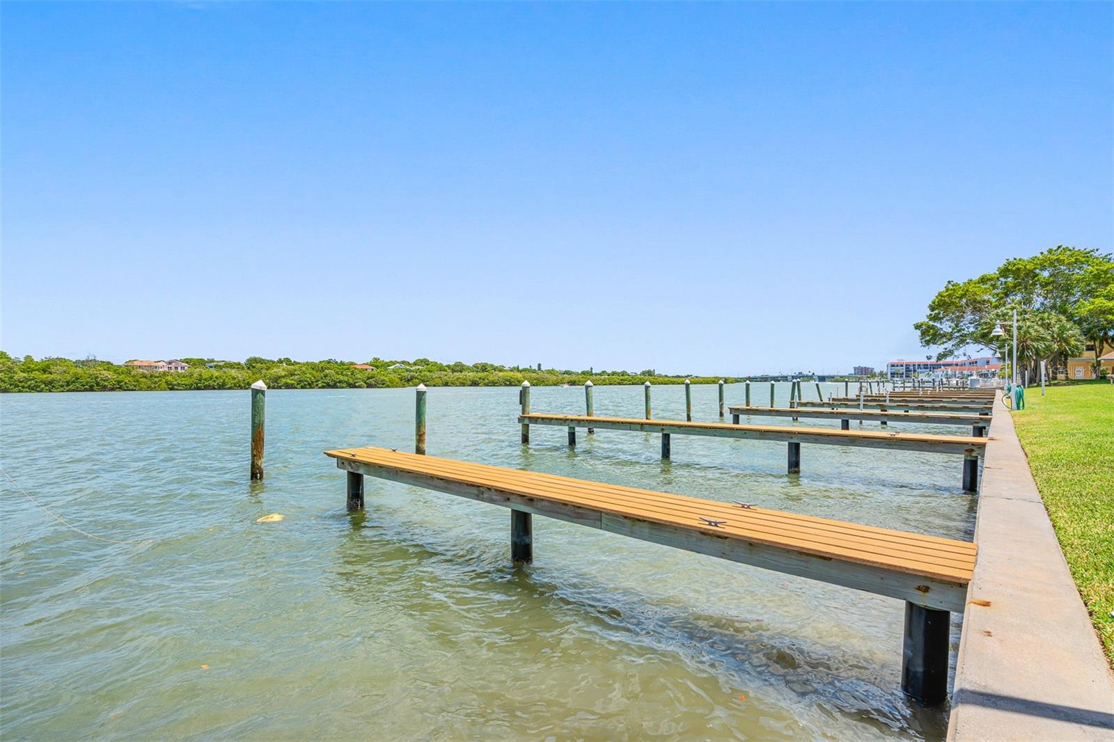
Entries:
<svg viewBox="0 0 1114 742">
<path fill-rule="evenodd" d="M 568 430 L 569 446 L 576 445 L 576 429 L 631 430 L 661 433 L 662 458 L 672 456 L 672 436 L 710 436 L 743 440 L 779 441 L 789 443 L 789 472 L 801 470 L 801 443 L 822 446 L 856 446 L 885 448 L 898 451 L 927 451 L 954 453 L 964 457 L 964 489 L 978 489 L 978 457 L 986 447 L 985 438 L 970 436 L 928 436 L 924 433 L 882 432 L 873 430 L 834 430 L 832 428 L 801 428 L 789 426 L 740 426 L 725 422 L 687 422 L 685 420 L 643 420 L 639 418 L 600 418 L 584 414 L 524 413 L 518 417 L 525 426 L 554 426 Z"/>
</svg>

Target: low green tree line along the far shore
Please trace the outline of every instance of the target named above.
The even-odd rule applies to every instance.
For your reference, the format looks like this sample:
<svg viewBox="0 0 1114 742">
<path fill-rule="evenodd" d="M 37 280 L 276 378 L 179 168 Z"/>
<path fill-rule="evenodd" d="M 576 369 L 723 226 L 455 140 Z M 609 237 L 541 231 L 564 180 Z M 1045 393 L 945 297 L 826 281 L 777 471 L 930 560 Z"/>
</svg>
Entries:
<svg viewBox="0 0 1114 742">
<path fill-rule="evenodd" d="M 390 361 L 373 358 L 374 370 L 355 368 L 353 361 L 293 361 L 289 358 L 252 357 L 243 362 L 205 358 L 179 359 L 188 371 L 139 371 L 95 358 L 70 360 L 30 355 L 13 358 L 0 351 L 0 392 L 52 391 L 177 391 L 247 389 L 262 379 L 271 389 L 387 389 L 414 387 L 516 387 L 534 385 L 684 383 L 686 377 L 631 373 L 628 371 L 574 371 L 505 367 L 496 363 L 439 363 L 420 358 Z M 687 377 L 693 383 L 715 383 L 720 378 Z M 727 379 L 732 381 L 732 379 Z"/>
</svg>

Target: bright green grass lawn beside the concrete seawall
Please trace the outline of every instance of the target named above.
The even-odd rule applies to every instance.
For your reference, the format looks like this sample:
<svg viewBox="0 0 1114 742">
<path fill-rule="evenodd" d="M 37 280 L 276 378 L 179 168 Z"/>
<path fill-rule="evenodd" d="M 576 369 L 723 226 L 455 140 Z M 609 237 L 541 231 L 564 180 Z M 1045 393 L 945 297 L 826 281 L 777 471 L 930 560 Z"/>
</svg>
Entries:
<svg viewBox="0 0 1114 742">
<path fill-rule="evenodd" d="M 1072 577 L 1114 665 L 1114 385 L 1025 390 L 1014 424 Z"/>
</svg>

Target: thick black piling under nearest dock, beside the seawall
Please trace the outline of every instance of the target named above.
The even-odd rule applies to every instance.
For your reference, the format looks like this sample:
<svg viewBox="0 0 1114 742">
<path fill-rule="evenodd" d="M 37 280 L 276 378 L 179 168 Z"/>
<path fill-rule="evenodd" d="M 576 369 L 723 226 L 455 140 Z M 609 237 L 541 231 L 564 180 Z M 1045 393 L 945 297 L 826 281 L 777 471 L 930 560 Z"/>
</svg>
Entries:
<svg viewBox="0 0 1114 742">
<path fill-rule="evenodd" d="M 906 603 L 901 690 L 935 706 L 948 697 L 948 631 L 951 614 Z"/>
</svg>

